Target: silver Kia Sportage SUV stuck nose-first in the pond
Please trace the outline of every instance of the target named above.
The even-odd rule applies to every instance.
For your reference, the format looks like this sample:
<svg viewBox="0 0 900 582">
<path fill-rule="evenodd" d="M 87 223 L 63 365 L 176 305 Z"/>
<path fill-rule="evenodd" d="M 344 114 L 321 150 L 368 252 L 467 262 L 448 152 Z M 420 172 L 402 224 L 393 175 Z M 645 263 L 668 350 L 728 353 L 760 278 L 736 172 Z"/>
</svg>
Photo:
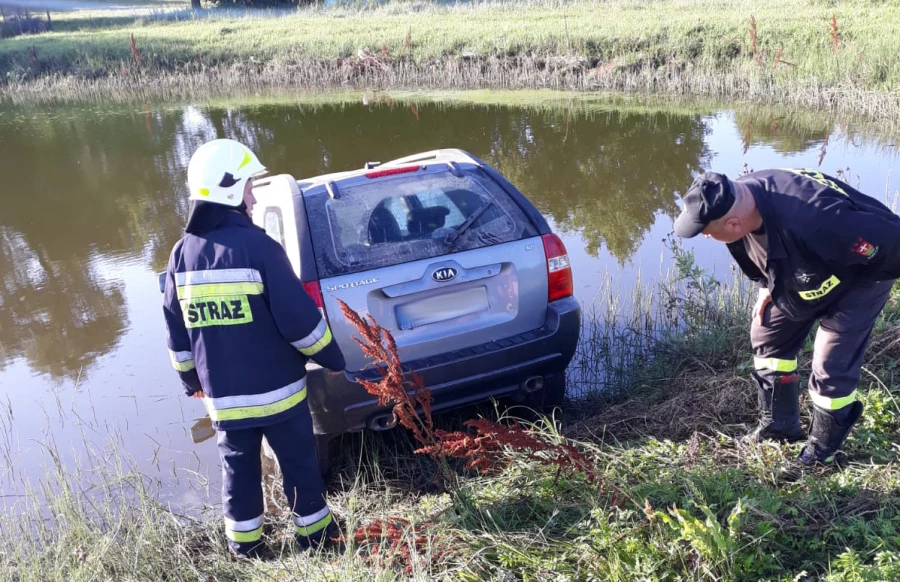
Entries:
<svg viewBox="0 0 900 582">
<path fill-rule="evenodd" d="M 581 330 L 569 257 L 487 163 L 441 149 L 313 178 L 269 176 L 254 195 L 253 221 L 285 249 L 346 358 L 339 374 L 307 366 L 323 464 L 334 437 L 395 424 L 357 382 L 380 374 L 339 299 L 391 332 L 434 411 L 499 397 L 534 408 L 564 399 Z"/>
</svg>

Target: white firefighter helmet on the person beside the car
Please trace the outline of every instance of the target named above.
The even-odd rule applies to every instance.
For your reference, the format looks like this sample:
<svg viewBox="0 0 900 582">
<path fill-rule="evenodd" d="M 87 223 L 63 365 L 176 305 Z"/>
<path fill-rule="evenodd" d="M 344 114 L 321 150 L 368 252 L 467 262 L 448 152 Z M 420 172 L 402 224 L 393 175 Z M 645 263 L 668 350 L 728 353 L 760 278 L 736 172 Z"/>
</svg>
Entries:
<svg viewBox="0 0 900 582">
<path fill-rule="evenodd" d="M 188 163 L 191 200 L 240 206 L 244 183 L 266 169 L 253 152 L 232 139 L 208 141 L 194 152 Z"/>
</svg>

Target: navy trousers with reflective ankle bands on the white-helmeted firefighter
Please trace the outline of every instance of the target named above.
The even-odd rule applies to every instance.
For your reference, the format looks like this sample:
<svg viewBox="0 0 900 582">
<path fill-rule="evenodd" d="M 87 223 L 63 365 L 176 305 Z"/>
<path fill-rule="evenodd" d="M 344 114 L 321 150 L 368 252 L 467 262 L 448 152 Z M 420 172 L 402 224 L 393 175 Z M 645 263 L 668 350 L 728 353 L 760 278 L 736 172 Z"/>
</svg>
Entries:
<svg viewBox="0 0 900 582">
<path fill-rule="evenodd" d="M 318 545 L 330 529 L 332 515 L 325 502 L 309 406 L 305 401 L 297 406 L 302 408 L 297 415 L 278 424 L 218 433 L 225 533 L 236 553 L 246 554 L 262 538 L 263 436 L 281 467 L 297 541 L 302 547 Z"/>
</svg>

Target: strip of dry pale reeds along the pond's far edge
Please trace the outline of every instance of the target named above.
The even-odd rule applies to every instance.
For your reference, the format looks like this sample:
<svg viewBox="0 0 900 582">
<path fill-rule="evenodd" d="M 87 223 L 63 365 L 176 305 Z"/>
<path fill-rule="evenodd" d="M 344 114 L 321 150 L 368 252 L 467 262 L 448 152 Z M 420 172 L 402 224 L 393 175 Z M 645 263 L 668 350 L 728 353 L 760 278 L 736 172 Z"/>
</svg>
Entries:
<svg viewBox="0 0 900 582">
<path fill-rule="evenodd" d="M 547 62 L 554 65 L 547 65 Z M 566 65 L 566 63 L 575 63 Z M 22 103 L 160 102 L 215 99 L 270 92 L 469 92 L 553 91 L 580 96 L 613 94 L 623 98 L 714 100 L 728 104 L 798 107 L 833 114 L 890 119 L 900 114 L 900 91 L 855 86 L 818 87 L 814 79 L 794 84 L 735 74 L 603 71 L 583 57 L 445 57 L 425 66 L 386 64 L 359 70 L 352 63 L 310 60 L 294 65 L 247 67 L 242 64 L 197 71 L 129 74 L 101 78 L 55 75 L 0 85 L 0 101 Z M 449 73 L 448 73 L 449 71 Z M 599 72 L 598 72 L 599 71 Z"/>
</svg>

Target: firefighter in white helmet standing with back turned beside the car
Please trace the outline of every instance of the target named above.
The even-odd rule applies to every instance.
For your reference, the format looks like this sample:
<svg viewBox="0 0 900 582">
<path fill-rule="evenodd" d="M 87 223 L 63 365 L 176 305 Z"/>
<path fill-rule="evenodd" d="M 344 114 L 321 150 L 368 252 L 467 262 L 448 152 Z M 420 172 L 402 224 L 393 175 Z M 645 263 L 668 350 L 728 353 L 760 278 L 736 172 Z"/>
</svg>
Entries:
<svg viewBox="0 0 900 582">
<path fill-rule="evenodd" d="M 345 367 L 331 330 L 282 247 L 250 219 L 252 179 L 265 167 L 217 139 L 188 165 L 193 201 L 166 272 L 163 312 L 172 365 L 217 431 L 225 533 L 239 557 L 265 554 L 260 447 L 284 475 L 304 548 L 333 534 L 306 400 L 306 363 Z"/>
</svg>

